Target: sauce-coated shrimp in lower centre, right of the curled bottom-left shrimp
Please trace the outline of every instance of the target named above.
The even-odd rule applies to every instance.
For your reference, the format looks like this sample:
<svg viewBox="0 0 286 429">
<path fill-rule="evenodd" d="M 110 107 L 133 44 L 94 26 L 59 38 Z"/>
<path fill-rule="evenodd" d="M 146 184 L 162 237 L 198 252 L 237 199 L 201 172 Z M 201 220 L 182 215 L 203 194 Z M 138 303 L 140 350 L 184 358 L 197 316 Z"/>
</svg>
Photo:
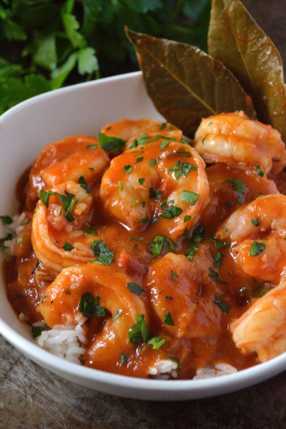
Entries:
<svg viewBox="0 0 286 429">
<path fill-rule="evenodd" d="M 213 288 L 212 280 L 208 274 L 204 279 L 201 276 L 202 270 L 205 271 L 203 265 L 212 264 L 206 259 L 200 249 L 196 263 L 184 255 L 168 253 L 149 266 L 143 285 L 149 308 L 160 320 L 165 335 L 196 338 L 217 332 L 221 311 L 213 302 L 215 290 L 211 299 L 207 297 Z"/>
</svg>

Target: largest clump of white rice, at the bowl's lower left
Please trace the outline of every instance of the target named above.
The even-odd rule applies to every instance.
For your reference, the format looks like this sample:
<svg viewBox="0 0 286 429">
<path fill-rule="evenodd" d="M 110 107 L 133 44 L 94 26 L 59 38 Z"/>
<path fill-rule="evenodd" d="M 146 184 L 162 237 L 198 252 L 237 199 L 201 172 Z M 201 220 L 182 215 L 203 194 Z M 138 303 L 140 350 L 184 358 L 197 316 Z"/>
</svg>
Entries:
<svg viewBox="0 0 286 429">
<path fill-rule="evenodd" d="M 81 325 L 86 320 L 86 317 L 78 313 L 75 316 L 75 321 L 78 322 L 75 327 L 57 325 L 53 329 L 46 329 L 36 338 L 36 343 L 55 356 L 81 364 L 80 357 L 84 354 L 85 347 L 83 346 L 86 342 L 85 330 Z M 44 323 L 36 322 L 33 323 L 33 326 L 44 326 Z"/>
</svg>

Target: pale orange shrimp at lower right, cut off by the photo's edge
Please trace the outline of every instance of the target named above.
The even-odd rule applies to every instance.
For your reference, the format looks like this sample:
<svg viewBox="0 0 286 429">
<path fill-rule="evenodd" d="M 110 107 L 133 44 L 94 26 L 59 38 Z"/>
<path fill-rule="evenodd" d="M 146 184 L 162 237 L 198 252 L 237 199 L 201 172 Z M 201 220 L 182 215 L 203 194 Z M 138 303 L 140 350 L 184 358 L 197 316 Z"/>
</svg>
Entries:
<svg viewBox="0 0 286 429">
<path fill-rule="evenodd" d="M 231 325 L 236 347 L 243 353 L 257 352 L 261 362 L 286 351 L 286 274 L 280 283 Z"/>
</svg>

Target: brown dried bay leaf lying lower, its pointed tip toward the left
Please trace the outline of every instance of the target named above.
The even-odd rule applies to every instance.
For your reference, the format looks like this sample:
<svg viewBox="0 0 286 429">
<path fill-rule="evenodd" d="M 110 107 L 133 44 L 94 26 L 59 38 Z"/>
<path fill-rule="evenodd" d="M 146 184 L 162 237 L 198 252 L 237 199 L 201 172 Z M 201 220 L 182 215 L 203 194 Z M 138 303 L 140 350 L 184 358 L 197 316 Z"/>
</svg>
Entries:
<svg viewBox="0 0 286 429">
<path fill-rule="evenodd" d="M 256 118 L 250 97 L 219 61 L 199 48 L 126 29 L 148 95 L 167 121 L 193 137 L 201 119 L 244 110 Z"/>
</svg>

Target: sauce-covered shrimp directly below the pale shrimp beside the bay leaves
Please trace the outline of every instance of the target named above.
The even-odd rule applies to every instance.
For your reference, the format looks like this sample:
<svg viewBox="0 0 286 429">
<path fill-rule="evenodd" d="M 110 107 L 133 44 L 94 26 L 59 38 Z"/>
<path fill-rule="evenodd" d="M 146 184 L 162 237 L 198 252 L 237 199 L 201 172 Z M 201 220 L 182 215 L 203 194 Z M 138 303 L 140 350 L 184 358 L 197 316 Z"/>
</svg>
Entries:
<svg viewBox="0 0 286 429">
<path fill-rule="evenodd" d="M 210 185 L 210 201 L 202 215 L 202 227 L 209 227 L 212 219 L 212 227 L 216 230 L 240 204 L 250 203 L 260 193 L 279 193 L 274 181 L 266 175 L 233 169 L 224 163 L 207 167 L 205 172 Z"/>
</svg>

